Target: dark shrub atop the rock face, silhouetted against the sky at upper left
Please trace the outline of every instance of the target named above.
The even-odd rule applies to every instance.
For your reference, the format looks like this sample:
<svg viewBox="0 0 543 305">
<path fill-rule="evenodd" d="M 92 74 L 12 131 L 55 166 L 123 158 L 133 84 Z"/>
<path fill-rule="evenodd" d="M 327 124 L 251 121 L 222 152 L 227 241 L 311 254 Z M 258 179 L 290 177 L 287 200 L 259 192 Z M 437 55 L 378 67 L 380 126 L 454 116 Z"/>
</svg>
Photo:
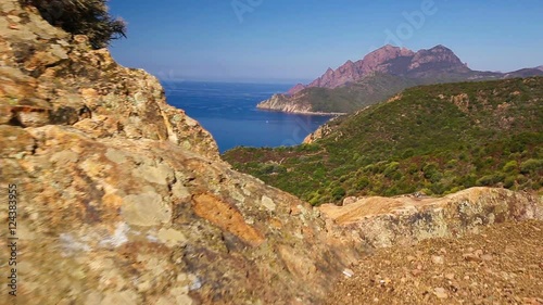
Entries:
<svg viewBox="0 0 543 305">
<path fill-rule="evenodd" d="M 51 25 L 67 33 L 83 34 L 94 49 L 105 48 L 112 39 L 126 37 L 126 24 L 108 13 L 106 0 L 21 0 L 34 5 Z"/>
</svg>

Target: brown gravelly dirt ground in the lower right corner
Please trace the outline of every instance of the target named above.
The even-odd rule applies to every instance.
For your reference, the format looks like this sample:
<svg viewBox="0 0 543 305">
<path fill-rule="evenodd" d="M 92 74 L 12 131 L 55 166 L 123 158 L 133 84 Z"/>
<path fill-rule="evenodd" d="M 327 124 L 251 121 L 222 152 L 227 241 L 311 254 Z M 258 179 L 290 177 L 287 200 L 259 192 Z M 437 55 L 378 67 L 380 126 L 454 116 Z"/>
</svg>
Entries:
<svg viewBox="0 0 543 305">
<path fill-rule="evenodd" d="M 326 304 L 543 305 L 543 221 L 379 249 L 344 274 Z"/>
</svg>

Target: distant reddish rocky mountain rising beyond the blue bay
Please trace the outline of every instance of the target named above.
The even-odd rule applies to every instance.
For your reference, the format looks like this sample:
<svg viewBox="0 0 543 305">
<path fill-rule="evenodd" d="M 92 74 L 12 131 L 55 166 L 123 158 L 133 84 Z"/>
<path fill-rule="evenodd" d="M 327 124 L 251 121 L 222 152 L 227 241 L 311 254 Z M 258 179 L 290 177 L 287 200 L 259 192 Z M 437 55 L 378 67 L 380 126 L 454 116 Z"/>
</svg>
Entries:
<svg viewBox="0 0 543 305">
<path fill-rule="evenodd" d="M 538 68 L 506 74 L 472 71 L 444 46 L 417 52 L 384 46 L 364 59 L 348 61 L 308 85 L 258 103 L 262 110 L 295 113 L 349 113 L 416 85 L 543 75 Z M 392 82 L 392 84 L 391 84 Z"/>
</svg>

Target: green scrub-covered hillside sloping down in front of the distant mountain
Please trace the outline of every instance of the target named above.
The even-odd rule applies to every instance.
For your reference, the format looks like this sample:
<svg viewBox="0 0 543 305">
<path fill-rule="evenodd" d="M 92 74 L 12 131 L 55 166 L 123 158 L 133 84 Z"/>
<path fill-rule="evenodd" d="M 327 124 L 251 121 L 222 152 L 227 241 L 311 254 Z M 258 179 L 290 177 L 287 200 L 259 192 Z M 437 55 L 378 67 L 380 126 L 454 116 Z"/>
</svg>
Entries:
<svg viewBox="0 0 543 305">
<path fill-rule="evenodd" d="M 223 157 L 312 204 L 543 187 L 543 77 L 414 87 L 325 127 L 310 144 Z"/>
</svg>

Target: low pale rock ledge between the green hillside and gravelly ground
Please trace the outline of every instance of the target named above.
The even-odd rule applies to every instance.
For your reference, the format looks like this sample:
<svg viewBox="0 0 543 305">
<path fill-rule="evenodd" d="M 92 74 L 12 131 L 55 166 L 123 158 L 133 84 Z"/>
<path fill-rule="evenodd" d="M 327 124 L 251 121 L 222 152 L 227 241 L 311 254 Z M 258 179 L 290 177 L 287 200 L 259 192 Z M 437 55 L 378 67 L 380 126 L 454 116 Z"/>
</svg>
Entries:
<svg viewBox="0 0 543 305">
<path fill-rule="evenodd" d="M 331 231 L 350 234 L 367 247 L 457 238 L 481 226 L 507 220 L 543 220 L 543 196 L 506 189 L 471 188 L 444 198 L 404 195 L 345 200 L 319 211 L 333 219 Z"/>
</svg>

